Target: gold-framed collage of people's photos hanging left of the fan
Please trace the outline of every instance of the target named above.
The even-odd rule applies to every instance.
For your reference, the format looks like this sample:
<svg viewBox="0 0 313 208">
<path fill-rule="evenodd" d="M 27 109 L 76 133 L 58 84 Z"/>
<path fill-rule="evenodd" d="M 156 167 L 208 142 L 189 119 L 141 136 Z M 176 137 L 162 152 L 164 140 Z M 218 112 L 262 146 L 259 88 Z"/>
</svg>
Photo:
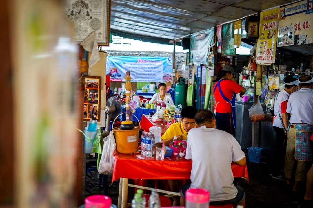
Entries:
<svg viewBox="0 0 313 208">
<path fill-rule="evenodd" d="M 94 115 L 100 121 L 101 77 L 85 77 L 84 120 L 89 121 Z"/>
</svg>

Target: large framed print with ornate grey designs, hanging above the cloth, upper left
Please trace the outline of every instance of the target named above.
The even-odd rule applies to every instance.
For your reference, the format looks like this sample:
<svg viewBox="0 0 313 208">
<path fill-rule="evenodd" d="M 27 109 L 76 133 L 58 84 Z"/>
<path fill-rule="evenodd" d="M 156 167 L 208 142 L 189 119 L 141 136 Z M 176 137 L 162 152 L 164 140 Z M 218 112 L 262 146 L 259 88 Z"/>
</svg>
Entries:
<svg viewBox="0 0 313 208">
<path fill-rule="evenodd" d="M 75 28 L 74 41 L 83 42 L 95 31 L 98 45 L 110 43 L 111 0 L 65 0 L 64 14 Z"/>
</svg>

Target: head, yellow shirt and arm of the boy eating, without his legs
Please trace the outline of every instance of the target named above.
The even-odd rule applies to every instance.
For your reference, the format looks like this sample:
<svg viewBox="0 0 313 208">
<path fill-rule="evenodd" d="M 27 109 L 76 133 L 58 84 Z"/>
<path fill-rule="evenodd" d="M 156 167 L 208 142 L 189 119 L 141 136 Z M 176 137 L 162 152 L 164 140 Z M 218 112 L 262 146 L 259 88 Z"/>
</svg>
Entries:
<svg viewBox="0 0 313 208">
<path fill-rule="evenodd" d="M 181 121 L 168 127 L 161 136 L 161 142 L 168 146 L 170 141 L 174 140 L 174 136 L 177 136 L 177 141 L 186 140 L 188 131 L 196 126 L 194 116 L 197 111 L 198 109 L 193 106 L 184 107 L 181 112 Z"/>
</svg>

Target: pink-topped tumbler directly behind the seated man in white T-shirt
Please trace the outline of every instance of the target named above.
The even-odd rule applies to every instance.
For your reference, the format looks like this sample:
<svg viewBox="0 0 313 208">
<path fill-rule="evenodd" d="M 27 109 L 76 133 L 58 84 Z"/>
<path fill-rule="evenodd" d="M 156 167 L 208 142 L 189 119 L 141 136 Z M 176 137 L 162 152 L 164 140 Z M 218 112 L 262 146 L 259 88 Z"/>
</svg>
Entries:
<svg viewBox="0 0 313 208">
<path fill-rule="evenodd" d="M 186 208 L 208 208 L 210 192 L 205 189 L 188 189 L 186 191 Z"/>
</svg>

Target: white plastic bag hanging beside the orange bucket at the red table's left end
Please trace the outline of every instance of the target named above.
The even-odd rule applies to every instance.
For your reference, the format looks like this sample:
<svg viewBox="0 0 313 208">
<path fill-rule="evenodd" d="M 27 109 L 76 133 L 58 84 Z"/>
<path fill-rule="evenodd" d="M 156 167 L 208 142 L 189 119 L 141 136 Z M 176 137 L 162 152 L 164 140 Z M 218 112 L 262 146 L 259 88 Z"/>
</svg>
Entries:
<svg viewBox="0 0 313 208">
<path fill-rule="evenodd" d="M 113 132 L 110 131 L 109 136 L 103 138 L 104 144 L 102 149 L 102 155 L 99 162 L 98 172 L 104 175 L 111 175 L 114 168 L 114 150 L 115 150 L 115 139 Z"/>
</svg>

